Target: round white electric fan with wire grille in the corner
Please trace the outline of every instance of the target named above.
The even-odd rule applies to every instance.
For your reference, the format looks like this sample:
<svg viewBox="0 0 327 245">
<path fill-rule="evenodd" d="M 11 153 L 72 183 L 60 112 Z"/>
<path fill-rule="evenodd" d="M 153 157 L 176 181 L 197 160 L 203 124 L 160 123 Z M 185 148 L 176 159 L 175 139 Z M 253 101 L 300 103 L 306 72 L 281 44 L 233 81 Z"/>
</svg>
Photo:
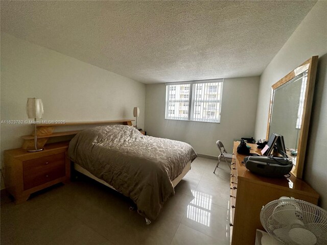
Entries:
<svg viewBox="0 0 327 245">
<path fill-rule="evenodd" d="M 262 208 L 260 220 L 282 244 L 327 244 L 327 211 L 311 203 L 282 197 Z"/>
</svg>

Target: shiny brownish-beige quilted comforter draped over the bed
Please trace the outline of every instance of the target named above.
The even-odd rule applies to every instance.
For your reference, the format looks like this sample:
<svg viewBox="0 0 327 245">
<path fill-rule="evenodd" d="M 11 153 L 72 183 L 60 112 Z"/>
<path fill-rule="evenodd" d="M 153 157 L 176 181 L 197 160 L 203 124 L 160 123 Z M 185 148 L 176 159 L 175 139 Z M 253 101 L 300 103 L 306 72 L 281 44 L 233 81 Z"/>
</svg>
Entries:
<svg viewBox="0 0 327 245">
<path fill-rule="evenodd" d="M 140 214 L 155 220 L 162 204 L 175 194 L 172 180 L 197 155 L 176 140 L 144 136 L 131 126 L 96 127 L 69 143 L 72 161 L 130 197 Z"/>
</svg>

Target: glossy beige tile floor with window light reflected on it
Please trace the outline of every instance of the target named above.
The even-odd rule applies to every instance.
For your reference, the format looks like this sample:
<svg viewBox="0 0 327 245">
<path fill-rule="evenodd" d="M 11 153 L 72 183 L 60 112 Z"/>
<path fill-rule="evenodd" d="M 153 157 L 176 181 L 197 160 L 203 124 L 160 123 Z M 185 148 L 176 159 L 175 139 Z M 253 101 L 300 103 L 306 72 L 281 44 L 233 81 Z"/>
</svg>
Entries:
<svg viewBox="0 0 327 245">
<path fill-rule="evenodd" d="M 131 201 L 88 178 L 22 204 L 1 201 L 1 244 L 229 244 L 229 168 L 197 158 L 149 226 Z"/>
</svg>

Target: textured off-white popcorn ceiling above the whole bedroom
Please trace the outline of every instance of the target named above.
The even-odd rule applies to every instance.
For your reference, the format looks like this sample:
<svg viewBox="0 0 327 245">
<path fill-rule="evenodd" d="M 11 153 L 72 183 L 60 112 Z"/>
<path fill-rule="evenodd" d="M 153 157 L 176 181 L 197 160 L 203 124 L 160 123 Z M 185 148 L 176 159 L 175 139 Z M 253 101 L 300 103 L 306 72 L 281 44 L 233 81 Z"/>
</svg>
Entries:
<svg viewBox="0 0 327 245">
<path fill-rule="evenodd" d="M 261 75 L 315 1 L 1 1 L 1 31 L 143 83 Z"/>
</svg>

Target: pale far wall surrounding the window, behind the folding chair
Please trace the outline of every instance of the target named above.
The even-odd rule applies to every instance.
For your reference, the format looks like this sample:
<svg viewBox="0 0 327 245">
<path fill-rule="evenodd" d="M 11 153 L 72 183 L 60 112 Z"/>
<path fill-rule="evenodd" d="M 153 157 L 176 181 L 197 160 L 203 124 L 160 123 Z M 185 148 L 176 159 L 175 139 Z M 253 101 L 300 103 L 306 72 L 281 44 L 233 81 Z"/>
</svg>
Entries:
<svg viewBox="0 0 327 245">
<path fill-rule="evenodd" d="M 199 154 L 218 156 L 216 141 L 231 153 L 233 139 L 253 136 L 259 77 L 225 79 L 221 122 L 165 119 L 165 84 L 146 86 L 145 130 L 148 135 L 190 143 Z"/>
</svg>

